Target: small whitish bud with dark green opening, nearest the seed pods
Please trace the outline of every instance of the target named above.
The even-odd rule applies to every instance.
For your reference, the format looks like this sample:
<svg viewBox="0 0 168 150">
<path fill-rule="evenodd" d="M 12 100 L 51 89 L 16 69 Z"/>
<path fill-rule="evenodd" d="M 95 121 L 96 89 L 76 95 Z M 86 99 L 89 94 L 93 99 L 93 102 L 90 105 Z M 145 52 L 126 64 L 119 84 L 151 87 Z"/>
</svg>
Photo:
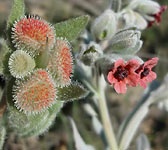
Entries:
<svg viewBox="0 0 168 150">
<path fill-rule="evenodd" d="M 80 60 L 87 66 L 92 65 L 97 58 L 103 54 L 100 45 L 91 42 L 89 45 L 82 45 Z"/>
</svg>

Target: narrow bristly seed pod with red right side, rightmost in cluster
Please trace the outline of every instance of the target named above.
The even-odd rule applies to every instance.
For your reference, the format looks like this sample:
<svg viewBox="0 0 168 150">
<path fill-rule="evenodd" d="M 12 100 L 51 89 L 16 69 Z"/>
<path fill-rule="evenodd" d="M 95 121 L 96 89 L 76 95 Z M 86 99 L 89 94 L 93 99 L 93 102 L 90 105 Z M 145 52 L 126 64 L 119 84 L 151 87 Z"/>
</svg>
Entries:
<svg viewBox="0 0 168 150">
<path fill-rule="evenodd" d="M 67 40 L 57 39 L 47 66 L 57 86 L 65 86 L 70 83 L 73 71 L 72 62 L 70 44 Z"/>
</svg>

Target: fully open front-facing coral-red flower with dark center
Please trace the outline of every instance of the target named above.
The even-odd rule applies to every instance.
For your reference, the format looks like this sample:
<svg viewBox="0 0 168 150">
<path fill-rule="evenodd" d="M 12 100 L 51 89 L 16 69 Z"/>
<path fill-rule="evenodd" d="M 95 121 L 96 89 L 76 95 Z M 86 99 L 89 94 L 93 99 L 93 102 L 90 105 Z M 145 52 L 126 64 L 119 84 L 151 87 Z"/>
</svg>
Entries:
<svg viewBox="0 0 168 150">
<path fill-rule="evenodd" d="M 107 80 L 113 84 L 117 93 L 126 93 L 126 84 L 130 86 L 137 86 L 139 75 L 135 73 L 139 63 L 135 59 L 129 60 L 126 64 L 122 59 L 114 63 L 113 68 L 107 75 Z"/>
</svg>

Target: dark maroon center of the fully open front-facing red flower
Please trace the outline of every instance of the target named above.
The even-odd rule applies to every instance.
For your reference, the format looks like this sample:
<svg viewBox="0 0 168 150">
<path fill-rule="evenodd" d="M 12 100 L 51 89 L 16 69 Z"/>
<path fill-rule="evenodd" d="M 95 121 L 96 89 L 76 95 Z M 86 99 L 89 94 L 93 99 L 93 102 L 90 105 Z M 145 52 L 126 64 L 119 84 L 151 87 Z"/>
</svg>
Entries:
<svg viewBox="0 0 168 150">
<path fill-rule="evenodd" d="M 118 81 L 123 81 L 126 77 L 128 76 L 128 70 L 119 66 L 117 68 L 117 71 L 114 73 L 114 77 L 118 80 Z"/>
</svg>

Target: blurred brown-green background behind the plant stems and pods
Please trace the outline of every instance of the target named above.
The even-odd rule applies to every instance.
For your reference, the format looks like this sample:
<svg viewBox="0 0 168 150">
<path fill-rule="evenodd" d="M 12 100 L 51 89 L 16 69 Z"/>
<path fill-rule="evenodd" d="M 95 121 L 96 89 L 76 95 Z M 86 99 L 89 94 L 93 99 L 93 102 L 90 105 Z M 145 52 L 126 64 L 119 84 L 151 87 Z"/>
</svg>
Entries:
<svg viewBox="0 0 168 150">
<path fill-rule="evenodd" d="M 168 5 L 167 0 L 158 2 L 161 5 Z M 90 15 L 92 20 L 108 6 L 108 0 L 25 0 L 25 4 L 27 14 L 36 14 L 51 23 L 57 23 L 82 14 Z M 12 0 L 0 0 L 0 38 L 5 35 L 6 20 L 11 6 Z M 157 80 L 162 82 L 168 72 L 168 10 L 162 15 L 160 25 L 154 25 L 142 32 L 142 39 L 144 45 L 138 55 L 144 60 L 155 56 L 160 58 L 155 71 L 158 74 Z M 74 50 L 78 51 L 78 46 L 74 43 L 72 43 Z M 129 88 L 126 95 L 117 95 L 109 89 L 108 106 L 115 131 L 118 130 L 123 118 L 136 105 L 143 92 L 141 87 L 137 87 Z M 86 143 L 95 145 L 96 150 L 103 150 L 103 143 L 91 126 L 91 118 L 84 112 L 84 103 L 91 103 L 91 101 L 87 99 L 66 104 L 56 118 L 55 124 L 40 137 L 24 139 L 13 133 L 8 134 L 4 149 L 74 150 L 72 129 L 67 119 L 67 116 L 72 116 Z M 152 106 L 140 126 L 138 133 L 140 132 L 148 136 L 154 150 L 168 150 L 168 112 Z M 135 150 L 134 143 L 129 149 Z"/>
</svg>

